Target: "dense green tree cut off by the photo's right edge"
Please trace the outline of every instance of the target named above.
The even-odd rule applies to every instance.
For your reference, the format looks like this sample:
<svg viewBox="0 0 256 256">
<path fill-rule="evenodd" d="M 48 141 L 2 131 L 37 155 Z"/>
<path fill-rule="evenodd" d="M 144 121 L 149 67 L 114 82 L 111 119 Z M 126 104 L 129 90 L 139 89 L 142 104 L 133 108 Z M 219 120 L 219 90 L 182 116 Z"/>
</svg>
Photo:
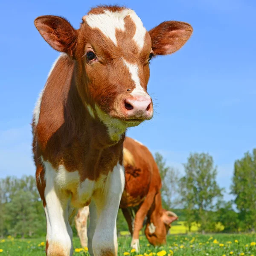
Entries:
<svg viewBox="0 0 256 256">
<path fill-rule="evenodd" d="M 239 210 L 243 230 L 256 229 L 256 148 L 244 154 L 234 165 L 232 193 Z"/>
</svg>

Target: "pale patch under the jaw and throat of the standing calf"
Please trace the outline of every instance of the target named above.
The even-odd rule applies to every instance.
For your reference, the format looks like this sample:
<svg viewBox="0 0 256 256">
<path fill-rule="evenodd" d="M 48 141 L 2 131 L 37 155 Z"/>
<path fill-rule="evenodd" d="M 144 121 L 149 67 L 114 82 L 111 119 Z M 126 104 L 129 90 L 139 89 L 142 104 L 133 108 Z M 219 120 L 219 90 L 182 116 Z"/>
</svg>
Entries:
<svg viewBox="0 0 256 256">
<path fill-rule="evenodd" d="M 108 114 L 104 113 L 96 104 L 95 110 L 99 119 L 107 126 L 108 134 L 111 140 L 118 142 L 122 134 L 126 131 L 126 126 L 119 119 L 111 118 Z"/>
</svg>

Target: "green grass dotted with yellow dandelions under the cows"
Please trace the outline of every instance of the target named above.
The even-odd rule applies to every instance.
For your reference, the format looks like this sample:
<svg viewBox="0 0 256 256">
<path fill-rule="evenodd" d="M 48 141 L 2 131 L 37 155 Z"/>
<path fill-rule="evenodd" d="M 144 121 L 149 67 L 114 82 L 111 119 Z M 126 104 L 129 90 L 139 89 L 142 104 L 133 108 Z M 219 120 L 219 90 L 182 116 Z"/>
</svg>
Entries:
<svg viewBox="0 0 256 256">
<path fill-rule="evenodd" d="M 120 237 L 118 240 L 120 256 L 122 256 L 124 252 L 130 253 L 130 256 L 137 255 L 137 253 L 131 253 L 131 248 L 129 247 L 131 238 L 129 236 Z M 235 242 L 235 240 L 237 241 Z M 170 235 L 167 238 L 167 244 L 165 246 L 153 247 L 148 244 L 145 236 L 141 236 L 140 254 L 145 256 L 164 256 L 165 254 L 166 256 L 168 256 L 168 254 L 169 256 L 256 256 L 255 242 L 255 234 L 216 234 L 212 236 Z M 41 243 L 44 244 L 44 238 L 6 238 L 0 240 L 0 256 L 45 256 L 44 245 L 41 245 Z M 223 246 L 220 246 L 222 244 Z M 78 238 L 74 238 L 74 248 L 80 248 Z M 3 252 L 1 252 L 2 250 Z M 233 254 L 230 254 L 231 252 L 233 252 Z M 88 255 L 89 254 L 84 250 L 74 252 L 74 256 Z"/>
</svg>

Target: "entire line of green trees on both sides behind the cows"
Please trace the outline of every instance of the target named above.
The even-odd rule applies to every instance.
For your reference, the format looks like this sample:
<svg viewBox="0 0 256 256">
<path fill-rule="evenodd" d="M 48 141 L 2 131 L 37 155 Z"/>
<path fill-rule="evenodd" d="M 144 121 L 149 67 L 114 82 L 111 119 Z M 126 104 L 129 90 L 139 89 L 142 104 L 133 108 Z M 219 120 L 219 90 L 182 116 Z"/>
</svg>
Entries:
<svg viewBox="0 0 256 256">
<path fill-rule="evenodd" d="M 202 233 L 248 232 L 256 228 L 256 149 L 234 163 L 231 193 L 234 201 L 224 201 L 224 189 L 216 181 L 217 167 L 209 154 L 190 154 L 180 177 L 177 169 L 166 165 L 159 153 L 155 160 L 162 178 L 162 200 L 165 209 L 175 211 L 190 230 L 198 224 Z M 74 225 L 73 232 L 76 235 Z M 122 213 L 117 229 L 128 230 Z M 0 179 L 0 237 L 45 236 L 46 221 L 35 177 Z"/>
</svg>

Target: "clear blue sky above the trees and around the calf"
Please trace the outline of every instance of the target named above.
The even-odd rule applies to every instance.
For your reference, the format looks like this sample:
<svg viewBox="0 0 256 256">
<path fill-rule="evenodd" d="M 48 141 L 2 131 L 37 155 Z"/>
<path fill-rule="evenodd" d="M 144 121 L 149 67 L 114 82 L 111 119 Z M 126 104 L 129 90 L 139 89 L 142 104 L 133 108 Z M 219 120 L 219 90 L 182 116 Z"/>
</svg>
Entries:
<svg viewBox="0 0 256 256">
<path fill-rule="evenodd" d="M 78 28 L 90 7 L 114 3 L 134 9 L 147 29 L 164 20 L 194 28 L 180 51 L 151 61 L 154 119 L 128 135 L 160 151 L 181 174 L 190 152 L 208 152 L 228 192 L 234 161 L 256 147 L 253 0 L 1 1 L 0 177 L 35 173 L 29 124 L 58 52 L 41 38 L 34 19 L 61 15 Z"/>
</svg>

